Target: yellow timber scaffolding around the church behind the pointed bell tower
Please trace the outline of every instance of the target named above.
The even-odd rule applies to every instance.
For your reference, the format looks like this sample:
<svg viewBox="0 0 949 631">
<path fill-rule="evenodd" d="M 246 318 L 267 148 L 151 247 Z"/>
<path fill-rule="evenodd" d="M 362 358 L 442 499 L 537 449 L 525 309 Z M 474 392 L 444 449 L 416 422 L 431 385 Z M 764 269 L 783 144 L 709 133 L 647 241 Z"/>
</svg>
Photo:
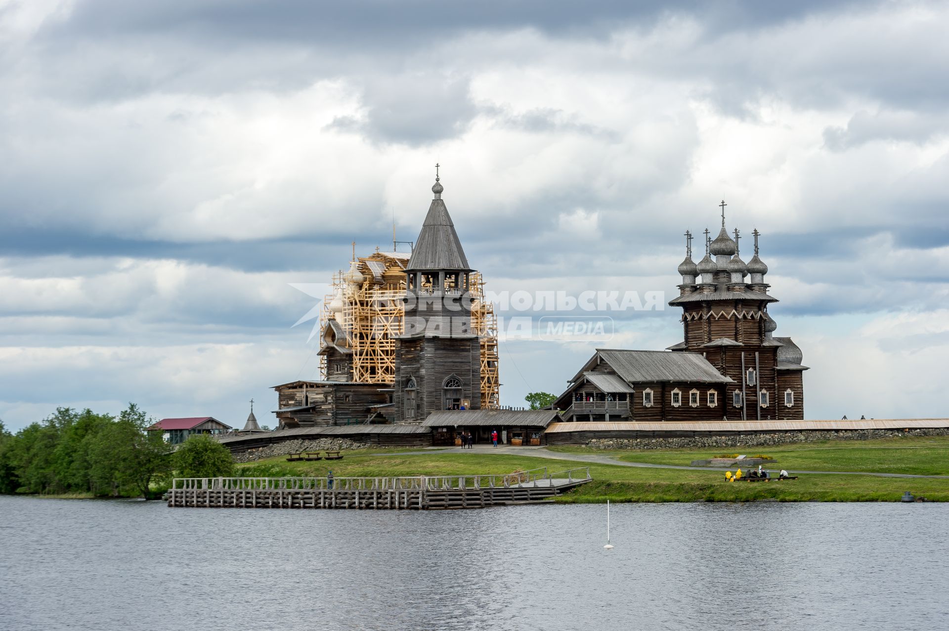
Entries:
<svg viewBox="0 0 949 631">
<path fill-rule="evenodd" d="M 392 383 L 396 374 L 396 340 L 404 319 L 405 266 L 410 252 L 376 251 L 353 258 L 350 268 L 333 275 L 333 293 L 323 301 L 321 330 L 334 319 L 345 332 L 344 344 L 352 350 L 350 380 Z M 484 299 L 484 280 L 471 278 L 472 328 L 480 338 L 481 407 L 499 406 L 497 317 Z M 326 344 L 326 335 L 322 336 Z M 327 378 L 326 354 L 320 355 L 320 372 Z"/>
</svg>

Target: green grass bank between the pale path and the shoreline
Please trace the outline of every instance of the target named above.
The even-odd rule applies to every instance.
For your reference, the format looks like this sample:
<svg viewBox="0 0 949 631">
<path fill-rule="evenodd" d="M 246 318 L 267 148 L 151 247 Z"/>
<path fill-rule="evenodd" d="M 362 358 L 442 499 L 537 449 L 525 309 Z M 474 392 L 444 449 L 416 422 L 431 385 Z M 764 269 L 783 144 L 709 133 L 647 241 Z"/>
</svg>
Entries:
<svg viewBox="0 0 949 631">
<path fill-rule="evenodd" d="M 285 456 L 240 465 L 239 475 L 335 476 L 438 475 L 512 473 L 548 467 L 551 473 L 589 467 L 593 482 L 561 495 L 564 503 L 693 501 L 897 501 L 909 491 L 927 499 L 949 501 L 949 479 L 899 479 L 864 475 L 805 475 L 788 482 L 727 482 L 720 471 L 643 469 L 520 455 L 344 454 L 343 460 L 287 462 Z M 686 463 L 688 464 L 688 463 Z"/>
</svg>

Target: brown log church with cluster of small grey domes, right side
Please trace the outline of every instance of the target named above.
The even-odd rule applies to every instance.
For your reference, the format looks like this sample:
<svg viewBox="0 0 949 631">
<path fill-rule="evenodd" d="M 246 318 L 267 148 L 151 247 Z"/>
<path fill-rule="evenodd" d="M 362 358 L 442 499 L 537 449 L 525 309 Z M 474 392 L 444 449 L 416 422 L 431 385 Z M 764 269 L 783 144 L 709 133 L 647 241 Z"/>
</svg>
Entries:
<svg viewBox="0 0 949 631">
<path fill-rule="evenodd" d="M 715 240 L 705 231 L 705 256 L 692 260 L 685 233 L 679 264 L 683 340 L 663 351 L 597 349 L 554 403 L 566 421 L 797 420 L 804 418 L 801 349 L 774 337 L 768 306 L 776 303 L 765 282 L 768 266 L 746 264 L 725 228 Z M 714 258 L 713 258 L 714 257 Z"/>
</svg>

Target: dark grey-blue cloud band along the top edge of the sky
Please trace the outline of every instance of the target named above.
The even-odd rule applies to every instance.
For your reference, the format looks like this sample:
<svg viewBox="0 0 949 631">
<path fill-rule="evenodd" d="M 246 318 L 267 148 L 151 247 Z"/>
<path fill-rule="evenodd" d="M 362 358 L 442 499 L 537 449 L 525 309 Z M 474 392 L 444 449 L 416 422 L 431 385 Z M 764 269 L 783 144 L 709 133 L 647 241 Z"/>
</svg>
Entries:
<svg viewBox="0 0 949 631">
<path fill-rule="evenodd" d="M 591 36 L 614 28 L 617 23 L 649 23 L 669 12 L 695 13 L 721 32 L 766 26 L 852 4 L 838 0 L 795 3 L 746 0 L 715 4 L 698 0 L 676 3 L 606 0 L 589 5 L 578 5 L 572 0 L 516 3 L 505 0 L 479 3 L 276 0 L 262 5 L 252 0 L 166 0 L 130 5 L 122 0 L 102 0 L 80 3 L 65 22 L 48 24 L 44 34 L 63 39 L 178 31 L 193 37 L 241 43 L 330 41 L 377 47 L 391 46 L 394 42 L 425 44 L 464 30 L 530 27 L 564 35 Z"/>
</svg>

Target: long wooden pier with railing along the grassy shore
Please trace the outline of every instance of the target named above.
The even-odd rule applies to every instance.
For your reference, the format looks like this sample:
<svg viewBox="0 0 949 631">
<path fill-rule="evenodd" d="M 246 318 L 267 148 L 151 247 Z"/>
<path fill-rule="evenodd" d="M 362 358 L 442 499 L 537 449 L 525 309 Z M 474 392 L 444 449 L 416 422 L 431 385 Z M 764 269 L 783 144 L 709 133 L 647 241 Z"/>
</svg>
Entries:
<svg viewBox="0 0 949 631">
<path fill-rule="evenodd" d="M 536 504 L 589 482 L 589 467 L 489 475 L 185 477 L 168 506 L 211 509 L 445 510 Z"/>
</svg>

